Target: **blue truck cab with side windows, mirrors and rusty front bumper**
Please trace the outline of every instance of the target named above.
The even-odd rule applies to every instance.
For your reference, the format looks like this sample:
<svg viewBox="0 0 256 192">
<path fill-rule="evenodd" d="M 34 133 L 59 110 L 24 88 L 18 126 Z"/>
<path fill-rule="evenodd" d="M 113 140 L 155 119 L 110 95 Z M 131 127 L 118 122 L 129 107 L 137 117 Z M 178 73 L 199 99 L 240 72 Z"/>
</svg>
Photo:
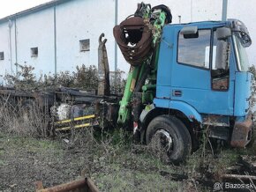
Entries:
<svg viewBox="0 0 256 192">
<path fill-rule="evenodd" d="M 149 123 L 147 137 L 155 129 L 172 147 L 176 139 L 185 143 L 191 137 L 193 148 L 198 133 L 207 129 L 208 137 L 245 147 L 252 138 L 253 76 L 245 51 L 251 44 L 247 28 L 236 19 L 164 26 L 150 110 L 162 114 L 166 109 L 165 114 L 176 116 L 188 129 L 180 135 L 189 136 L 174 138 L 169 129 L 157 130 L 164 125 L 152 128 Z"/>
</svg>

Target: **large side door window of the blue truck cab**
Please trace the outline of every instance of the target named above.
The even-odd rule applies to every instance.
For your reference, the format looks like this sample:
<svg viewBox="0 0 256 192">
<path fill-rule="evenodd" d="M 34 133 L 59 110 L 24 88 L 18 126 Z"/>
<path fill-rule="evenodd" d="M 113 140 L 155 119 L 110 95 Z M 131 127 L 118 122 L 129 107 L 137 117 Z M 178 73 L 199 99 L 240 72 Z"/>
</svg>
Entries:
<svg viewBox="0 0 256 192">
<path fill-rule="evenodd" d="M 198 36 L 178 36 L 177 62 L 209 69 L 211 31 L 199 30 Z"/>
</svg>

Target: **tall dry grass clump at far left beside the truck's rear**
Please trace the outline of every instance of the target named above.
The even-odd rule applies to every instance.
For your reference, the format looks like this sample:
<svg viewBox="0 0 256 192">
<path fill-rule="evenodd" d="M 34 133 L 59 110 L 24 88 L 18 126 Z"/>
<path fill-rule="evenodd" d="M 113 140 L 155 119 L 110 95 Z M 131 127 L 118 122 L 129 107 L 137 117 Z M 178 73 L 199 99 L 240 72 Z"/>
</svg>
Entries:
<svg viewBox="0 0 256 192">
<path fill-rule="evenodd" d="M 49 114 L 46 107 L 39 107 L 34 100 L 26 106 L 5 97 L 0 100 L 0 129 L 18 136 L 47 137 Z"/>
</svg>

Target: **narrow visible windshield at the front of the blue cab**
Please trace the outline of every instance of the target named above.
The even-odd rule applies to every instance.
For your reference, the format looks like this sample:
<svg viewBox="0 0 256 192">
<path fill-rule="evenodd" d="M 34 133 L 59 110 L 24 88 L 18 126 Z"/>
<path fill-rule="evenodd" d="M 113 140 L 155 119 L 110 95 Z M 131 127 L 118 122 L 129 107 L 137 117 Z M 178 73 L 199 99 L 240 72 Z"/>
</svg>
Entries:
<svg viewBox="0 0 256 192">
<path fill-rule="evenodd" d="M 246 54 L 245 47 L 243 46 L 243 39 L 241 38 L 241 34 L 239 32 L 233 33 L 233 41 L 236 49 L 238 70 L 248 71 L 249 60 Z"/>
</svg>

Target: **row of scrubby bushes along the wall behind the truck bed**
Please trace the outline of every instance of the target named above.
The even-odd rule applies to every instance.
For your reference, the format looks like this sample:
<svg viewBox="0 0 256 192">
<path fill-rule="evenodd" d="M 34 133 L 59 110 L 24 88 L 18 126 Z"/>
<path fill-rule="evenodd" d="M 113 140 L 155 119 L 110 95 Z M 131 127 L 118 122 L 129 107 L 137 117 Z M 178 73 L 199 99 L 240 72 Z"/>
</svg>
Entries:
<svg viewBox="0 0 256 192">
<path fill-rule="evenodd" d="M 4 77 L 8 86 L 14 87 L 18 90 L 38 90 L 45 89 L 47 87 L 56 88 L 61 86 L 96 90 L 98 88 L 98 70 L 94 65 L 86 67 L 77 66 L 76 71 L 61 71 L 56 75 L 48 74 L 43 75 L 39 79 L 35 77 L 34 67 L 25 65 L 19 66 L 18 75 L 14 76 L 7 74 Z M 114 72 L 114 76 L 110 77 L 112 84 L 110 84 L 110 90 L 112 93 L 124 92 L 125 81 L 122 78 L 124 71 L 117 70 Z"/>
</svg>

